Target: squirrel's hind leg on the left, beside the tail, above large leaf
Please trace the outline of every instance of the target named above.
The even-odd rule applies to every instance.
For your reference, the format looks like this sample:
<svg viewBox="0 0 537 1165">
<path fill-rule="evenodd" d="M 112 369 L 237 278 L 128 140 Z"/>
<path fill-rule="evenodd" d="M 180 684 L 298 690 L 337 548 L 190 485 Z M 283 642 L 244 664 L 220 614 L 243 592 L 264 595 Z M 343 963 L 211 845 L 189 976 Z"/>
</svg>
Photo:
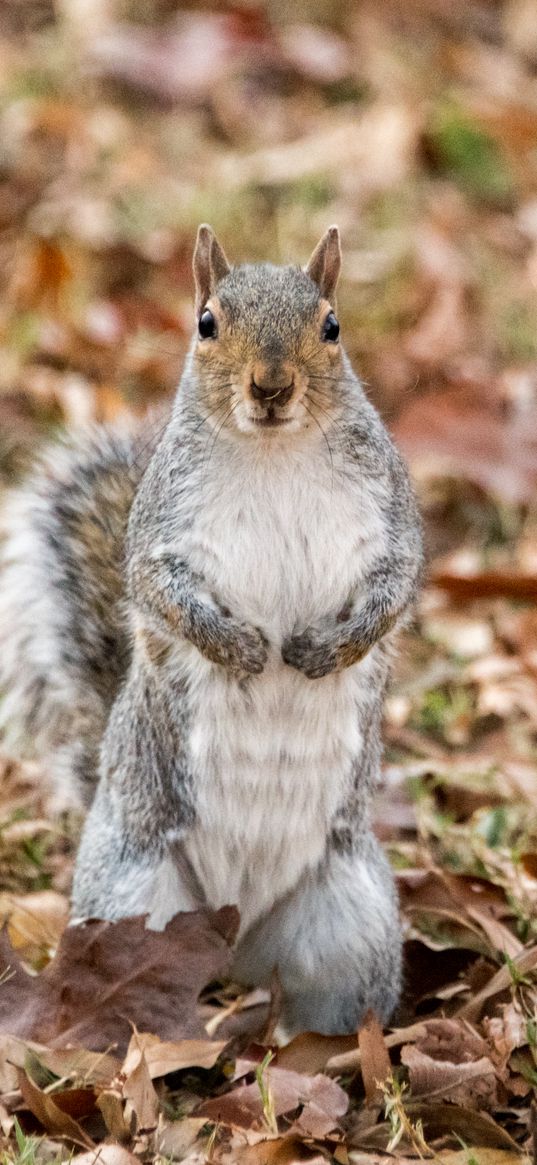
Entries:
<svg viewBox="0 0 537 1165">
<path fill-rule="evenodd" d="M 149 915 L 161 930 L 203 896 L 182 838 L 192 820 L 181 693 L 136 659 L 108 720 L 75 868 L 75 918 Z"/>
</svg>

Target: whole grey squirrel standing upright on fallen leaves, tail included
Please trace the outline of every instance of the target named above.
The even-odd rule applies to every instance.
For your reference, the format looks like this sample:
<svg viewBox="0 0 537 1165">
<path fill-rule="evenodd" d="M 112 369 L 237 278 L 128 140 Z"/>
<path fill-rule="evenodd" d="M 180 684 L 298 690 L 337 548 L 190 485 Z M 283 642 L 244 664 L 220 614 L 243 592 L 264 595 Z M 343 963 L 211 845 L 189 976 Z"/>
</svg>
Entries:
<svg viewBox="0 0 537 1165">
<path fill-rule="evenodd" d="M 7 508 L 0 683 L 89 807 L 75 918 L 235 903 L 239 982 L 288 1033 L 393 1014 L 401 924 L 370 803 L 422 571 L 408 469 L 339 337 L 339 232 L 306 268 L 195 255 L 163 432 L 55 449 Z"/>
</svg>

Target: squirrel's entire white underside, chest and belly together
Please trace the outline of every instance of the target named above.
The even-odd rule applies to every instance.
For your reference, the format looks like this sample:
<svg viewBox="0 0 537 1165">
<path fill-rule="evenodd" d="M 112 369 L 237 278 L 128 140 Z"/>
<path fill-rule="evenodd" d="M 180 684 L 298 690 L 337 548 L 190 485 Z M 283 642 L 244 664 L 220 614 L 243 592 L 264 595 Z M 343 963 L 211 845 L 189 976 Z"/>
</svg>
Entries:
<svg viewBox="0 0 537 1165">
<path fill-rule="evenodd" d="M 338 488 L 326 466 L 292 471 L 252 466 L 222 481 L 190 532 L 193 569 L 270 642 L 263 673 L 245 685 L 193 649 L 185 657 L 197 802 L 188 854 L 207 901 L 236 902 L 242 927 L 323 859 L 370 686 L 368 659 L 323 680 L 283 663 L 282 640 L 338 614 L 382 537 L 348 480 Z"/>
</svg>

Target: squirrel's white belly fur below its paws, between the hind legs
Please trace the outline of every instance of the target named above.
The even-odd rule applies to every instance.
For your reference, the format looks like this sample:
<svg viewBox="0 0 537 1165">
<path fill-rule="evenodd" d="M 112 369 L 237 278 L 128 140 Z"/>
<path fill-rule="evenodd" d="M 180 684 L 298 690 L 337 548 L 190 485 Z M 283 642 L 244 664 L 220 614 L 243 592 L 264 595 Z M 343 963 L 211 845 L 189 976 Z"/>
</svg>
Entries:
<svg viewBox="0 0 537 1165">
<path fill-rule="evenodd" d="M 271 659 L 242 689 L 192 664 L 186 853 L 207 903 L 236 904 L 243 931 L 323 859 L 362 749 L 369 666 L 311 682 Z"/>
</svg>

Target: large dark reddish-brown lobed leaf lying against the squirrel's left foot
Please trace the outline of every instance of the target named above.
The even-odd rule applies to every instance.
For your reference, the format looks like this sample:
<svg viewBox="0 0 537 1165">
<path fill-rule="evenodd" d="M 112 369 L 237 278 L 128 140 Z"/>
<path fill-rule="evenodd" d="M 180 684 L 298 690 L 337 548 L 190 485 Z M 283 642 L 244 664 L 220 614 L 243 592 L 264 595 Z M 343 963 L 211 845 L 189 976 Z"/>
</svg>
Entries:
<svg viewBox="0 0 537 1165">
<path fill-rule="evenodd" d="M 36 977 L 0 935 L 0 1030 L 52 1046 L 125 1050 L 133 1023 L 163 1038 L 203 1036 L 202 988 L 224 974 L 238 912 L 176 915 L 164 931 L 144 918 L 68 927 L 56 958 Z"/>
</svg>

